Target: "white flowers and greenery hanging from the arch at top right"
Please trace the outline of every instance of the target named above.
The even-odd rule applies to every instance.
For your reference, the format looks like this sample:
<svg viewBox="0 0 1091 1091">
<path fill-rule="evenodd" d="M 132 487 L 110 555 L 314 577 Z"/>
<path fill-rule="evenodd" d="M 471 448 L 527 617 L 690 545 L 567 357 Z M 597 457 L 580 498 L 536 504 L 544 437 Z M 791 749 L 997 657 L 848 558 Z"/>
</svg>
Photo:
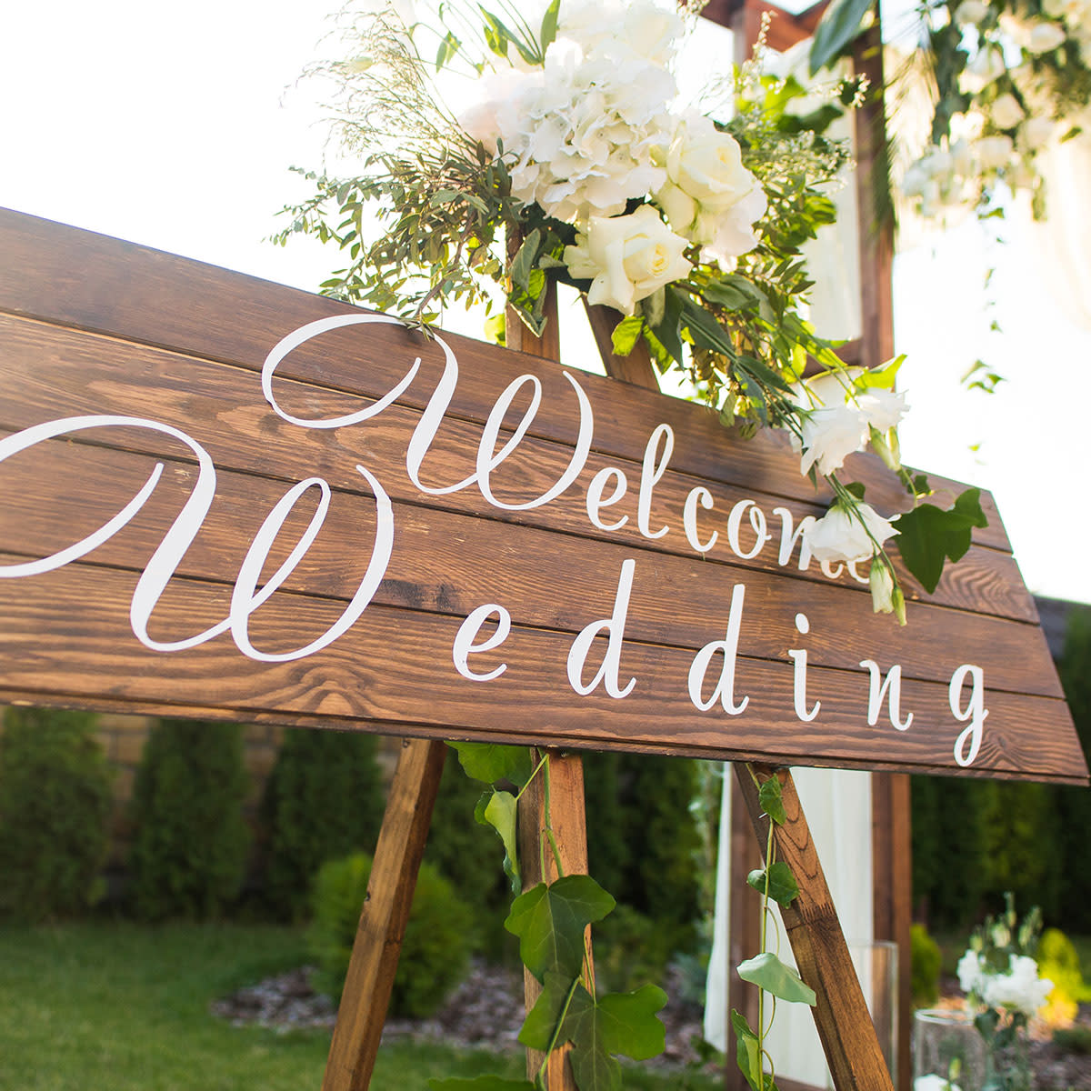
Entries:
<svg viewBox="0 0 1091 1091">
<path fill-rule="evenodd" d="M 872 7 L 830 4 L 813 72 L 846 51 Z M 943 219 L 970 208 L 988 215 L 1006 188 L 1028 193 L 1044 215 L 1038 156 L 1091 124 L 1089 0 L 925 0 L 912 33 L 895 83 L 923 80 L 933 109 L 927 134 L 898 134 L 923 145 L 901 176 L 902 195 L 922 216 Z"/>
</svg>

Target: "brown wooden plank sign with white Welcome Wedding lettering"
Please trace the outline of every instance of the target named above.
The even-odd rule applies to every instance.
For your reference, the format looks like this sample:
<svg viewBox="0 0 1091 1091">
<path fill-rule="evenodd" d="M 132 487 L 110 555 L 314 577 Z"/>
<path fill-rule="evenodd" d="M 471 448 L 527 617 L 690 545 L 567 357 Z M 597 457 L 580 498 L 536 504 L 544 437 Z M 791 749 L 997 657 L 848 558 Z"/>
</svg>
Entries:
<svg viewBox="0 0 1091 1091">
<path fill-rule="evenodd" d="M 777 436 L 23 215 L 0 252 L 0 700 L 1087 780 L 991 502 L 902 628 Z"/>
</svg>

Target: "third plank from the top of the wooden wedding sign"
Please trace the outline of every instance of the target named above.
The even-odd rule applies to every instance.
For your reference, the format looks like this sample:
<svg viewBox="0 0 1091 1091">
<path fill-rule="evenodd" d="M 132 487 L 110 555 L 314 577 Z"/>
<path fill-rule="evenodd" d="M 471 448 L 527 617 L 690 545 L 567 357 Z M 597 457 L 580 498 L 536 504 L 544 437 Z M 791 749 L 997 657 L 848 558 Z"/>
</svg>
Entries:
<svg viewBox="0 0 1091 1091">
<path fill-rule="evenodd" d="M 45 444 L 24 472 L 0 476 L 11 482 L 0 507 L 0 541 L 9 548 L 17 542 L 28 558 L 67 548 L 106 523 L 122 506 L 122 497 L 135 495 L 155 461 L 89 444 Z M 168 484 L 157 490 L 124 533 L 94 552 L 95 564 L 142 570 L 192 484 L 191 463 L 170 459 L 166 466 Z M 247 543 L 288 487 L 283 480 L 220 472 L 216 503 L 182 558 L 179 575 L 232 584 Z M 40 497 L 50 495 L 52 502 L 44 505 Z M 316 499 L 312 490 L 310 503 L 295 511 L 266 572 L 275 571 L 298 541 Z M 957 664 L 947 662 L 945 649 L 954 644 L 963 660 L 978 663 L 990 678 L 995 672 L 998 688 L 1062 696 L 1044 637 L 1020 622 L 922 603 L 913 609 L 911 624 L 901 627 L 872 612 L 864 587 L 817 582 L 799 587 L 794 579 L 722 563 L 712 560 L 714 554 L 695 570 L 685 558 L 636 552 L 604 535 L 573 536 L 565 540 L 562 574 L 555 562 L 543 563 L 555 547 L 538 528 L 400 503 L 394 505 L 394 524 L 396 549 L 373 600 L 384 606 L 465 618 L 480 603 L 499 600 L 517 624 L 575 634 L 590 616 L 611 612 L 616 574 L 635 556 L 640 578 L 634 582 L 630 602 L 625 632 L 631 639 L 700 648 L 718 635 L 709 624 L 709 606 L 730 602 L 733 587 L 742 583 L 747 609 L 758 615 L 753 624 L 747 618 L 740 646 L 745 657 L 791 662 L 788 649 L 798 636 L 792 622 L 798 600 L 805 596 L 815 663 L 859 672 L 864 650 L 882 649 L 884 664 L 903 662 L 907 678 L 949 681 Z M 285 589 L 349 600 L 362 565 L 347 563 L 347 555 L 365 551 L 374 533 L 373 501 L 361 490 L 337 490 L 322 533 L 288 576 Z M 607 573 L 612 577 L 604 578 Z M 547 579 L 556 587 L 554 594 L 542 595 Z"/>
</svg>

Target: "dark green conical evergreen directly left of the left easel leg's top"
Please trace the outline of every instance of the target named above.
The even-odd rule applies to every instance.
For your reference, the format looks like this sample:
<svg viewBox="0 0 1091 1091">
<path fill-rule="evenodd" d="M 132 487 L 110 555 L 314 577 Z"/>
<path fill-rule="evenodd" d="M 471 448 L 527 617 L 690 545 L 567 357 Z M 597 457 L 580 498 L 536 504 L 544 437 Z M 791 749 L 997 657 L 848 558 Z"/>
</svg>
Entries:
<svg viewBox="0 0 1091 1091">
<path fill-rule="evenodd" d="M 374 849 L 383 820 L 376 739 L 359 731 L 289 729 L 262 800 L 265 897 L 275 915 L 303 918 L 327 861 Z"/>
</svg>

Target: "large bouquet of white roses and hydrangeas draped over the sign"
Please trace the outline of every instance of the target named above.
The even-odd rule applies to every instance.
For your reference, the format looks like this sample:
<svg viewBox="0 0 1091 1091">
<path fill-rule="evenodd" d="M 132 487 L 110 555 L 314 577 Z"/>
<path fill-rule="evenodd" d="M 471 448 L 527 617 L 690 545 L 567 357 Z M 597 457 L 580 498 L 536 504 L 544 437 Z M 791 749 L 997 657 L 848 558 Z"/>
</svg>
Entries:
<svg viewBox="0 0 1091 1091">
<path fill-rule="evenodd" d="M 828 190 L 848 154 L 800 124 L 803 87 L 763 76 L 757 59 L 718 88 L 723 120 L 683 101 L 672 65 L 696 10 L 553 0 L 532 23 L 506 0 L 500 14 L 346 11 L 347 59 L 321 73 L 360 171 L 309 173 L 316 193 L 286 209 L 277 241 L 335 243 L 349 262 L 324 291 L 419 326 L 441 303 L 502 300 L 540 335 L 550 283 L 575 287 L 614 313 L 615 353 L 640 345 L 660 370 L 681 369 L 743 435 L 788 433 L 801 472 L 835 494 L 807 530 L 813 555 L 848 564 L 875 610 L 904 623 L 885 543 L 900 535 L 906 566 L 933 591 L 985 525 L 978 493 L 946 511 L 923 502 L 926 479 L 898 455 L 900 361 L 850 373 L 806 321 L 801 247 L 834 220 Z M 852 104 L 862 85 L 835 91 Z M 365 211 L 380 223 L 371 242 Z M 502 313 L 489 328 L 501 334 Z M 820 375 L 804 377 L 808 360 Z M 884 518 L 840 480 L 867 446 L 910 512 Z"/>
</svg>

